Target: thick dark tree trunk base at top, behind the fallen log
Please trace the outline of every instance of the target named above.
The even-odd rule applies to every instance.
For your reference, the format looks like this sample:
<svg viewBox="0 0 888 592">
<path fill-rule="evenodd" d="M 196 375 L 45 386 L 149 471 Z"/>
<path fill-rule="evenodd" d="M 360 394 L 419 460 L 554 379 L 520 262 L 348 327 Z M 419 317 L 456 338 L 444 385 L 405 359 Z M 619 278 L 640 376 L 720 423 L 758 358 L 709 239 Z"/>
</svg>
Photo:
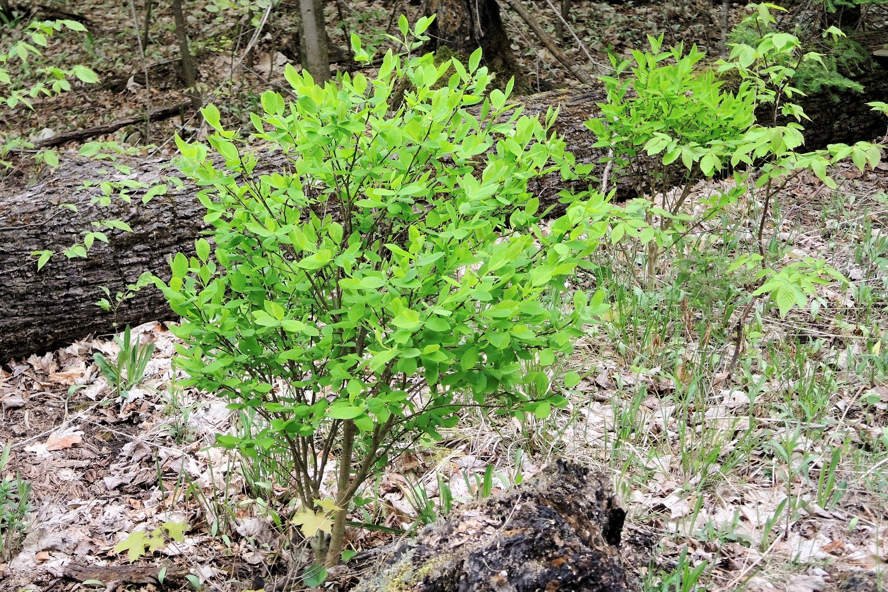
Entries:
<svg viewBox="0 0 888 592">
<path fill-rule="evenodd" d="M 428 31 L 430 51 L 447 47 L 465 61 L 480 47 L 484 64 L 496 72 L 497 87 L 504 88 L 514 76 L 516 95 L 531 92 L 527 74 L 511 51 L 496 0 L 426 0 L 424 14 L 435 15 Z"/>
</svg>

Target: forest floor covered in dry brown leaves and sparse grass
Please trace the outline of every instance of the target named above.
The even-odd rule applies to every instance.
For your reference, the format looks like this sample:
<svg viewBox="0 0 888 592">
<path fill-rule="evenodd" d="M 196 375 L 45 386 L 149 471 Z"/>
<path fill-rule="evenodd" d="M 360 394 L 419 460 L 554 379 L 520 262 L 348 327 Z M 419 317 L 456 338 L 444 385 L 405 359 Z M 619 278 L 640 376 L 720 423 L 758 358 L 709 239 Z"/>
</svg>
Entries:
<svg viewBox="0 0 888 592">
<path fill-rule="evenodd" d="M 226 84 L 251 29 L 215 20 L 207 5 L 193 3 L 188 19 L 202 81 L 219 89 L 214 100 L 226 105 L 227 117 L 245 121 L 261 91 L 281 83 L 283 64 L 295 58 L 293 23 L 277 23 L 275 35 L 258 44 L 251 71 L 238 69 Z M 99 2 L 79 6 L 89 15 L 91 40 L 59 39 L 47 56 L 90 65 L 103 81 L 123 87 L 76 86 L 37 102 L 34 111 L 6 111 L 0 114 L 4 132 L 51 130 L 45 136 L 186 99 L 181 81 L 163 69 L 156 83 L 149 75 L 148 91 L 139 84 L 142 67 L 133 59 L 139 51 L 128 11 Z M 378 43 L 392 30 L 392 4 L 364 2 L 360 8 L 330 29 L 338 46 L 345 48 L 345 34 L 353 30 Z M 412 4 L 405 8 L 418 11 Z M 329 10 L 329 21 L 337 22 L 336 7 Z M 551 11 L 538 12 L 554 31 Z M 733 5 L 732 14 L 740 12 Z M 163 10 L 153 21 L 147 63 L 176 57 L 171 22 Z M 577 3 L 572 22 L 602 64 L 609 46 L 619 53 L 644 47 L 648 33 L 716 51 L 720 38 L 718 10 L 709 3 Z M 506 26 L 534 88 L 572 83 L 516 15 Z M 571 55 L 584 55 L 565 44 Z M 234 99 L 226 103 L 226 97 Z M 171 154 L 174 130 L 202 132 L 185 116 L 102 139 L 131 146 L 127 158 L 139 159 Z M 78 158 L 77 151 L 76 145 L 59 149 L 63 160 Z M 35 170 L 27 160 L 16 165 L 4 183 L 65 170 L 64 162 L 55 173 Z M 860 173 L 849 164 L 836 178 L 836 191 L 804 176 L 788 185 L 766 233 L 792 245 L 789 257 L 825 258 L 852 288 L 820 287 L 814 314 L 796 311 L 781 319 L 768 312 L 750 320 L 755 330 L 729 376 L 731 303 L 748 279 L 729 270 L 723 228 L 712 225 L 696 237 L 698 244 L 720 245 L 715 255 L 691 249 L 663 262 L 662 282 L 653 291 L 638 288 L 638 252 L 603 254 L 602 268 L 612 270 L 605 287 L 613 310 L 588 328 L 575 357 L 559 368 L 585 376 L 565 393 L 570 405 L 523 425 L 466 413 L 443 441 L 400 459 L 377 479 L 364 494 L 368 505 L 354 518 L 381 530 L 349 529 L 349 546 L 391 541 L 416 523 L 425 501 L 440 506 L 441 484 L 455 501 L 466 501 L 488 485 L 496 490 L 532 478 L 558 457 L 614 476 L 629 533 L 656 541 L 654 562 L 638 566 L 647 590 L 875 589 L 888 560 L 888 170 L 880 165 Z M 701 184 L 695 195 L 710 189 Z M 694 200 L 688 203 L 693 208 Z M 757 206 L 741 201 L 736 207 L 748 215 Z M 95 352 L 113 359 L 119 351 L 107 335 L 13 360 L 0 370 L 0 449 L 12 446 L 0 478 L 28 481 L 34 507 L 23 550 L 0 556 L 0 591 L 112 589 L 105 584 L 115 575 L 138 582 L 166 565 L 168 584 L 176 587 L 188 585 L 190 572 L 208 588 L 239 592 L 255 576 L 280 577 L 281 565 L 305 550 L 285 544 L 293 533 L 281 533 L 268 517 L 281 490 L 248 486 L 263 476 L 244 478 L 248 465 L 210 446 L 215 434 L 237 430 L 239 422 L 212 393 L 178 386 L 182 374 L 172 364 L 177 340 L 167 325 L 149 323 L 134 335 L 154 343 L 155 352 L 144 380 L 126 397 L 112 392 L 93 363 Z M 115 546 L 164 523 L 186 524 L 184 540 L 144 554 L 134 563 L 142 571 L 124 574 L 131 562 Z M 10 536 L 14 530 L 3 533 L 4 544 Z M 107 571 L 93 578 L 102 585 L 65 578 L 72 563 L 105 565 Z M 849 579 L 858 572 L 866 574 L 862 583 Z M 330 581 L 345 590 L 356 578 L 343 570 Z"/>
</svg>

